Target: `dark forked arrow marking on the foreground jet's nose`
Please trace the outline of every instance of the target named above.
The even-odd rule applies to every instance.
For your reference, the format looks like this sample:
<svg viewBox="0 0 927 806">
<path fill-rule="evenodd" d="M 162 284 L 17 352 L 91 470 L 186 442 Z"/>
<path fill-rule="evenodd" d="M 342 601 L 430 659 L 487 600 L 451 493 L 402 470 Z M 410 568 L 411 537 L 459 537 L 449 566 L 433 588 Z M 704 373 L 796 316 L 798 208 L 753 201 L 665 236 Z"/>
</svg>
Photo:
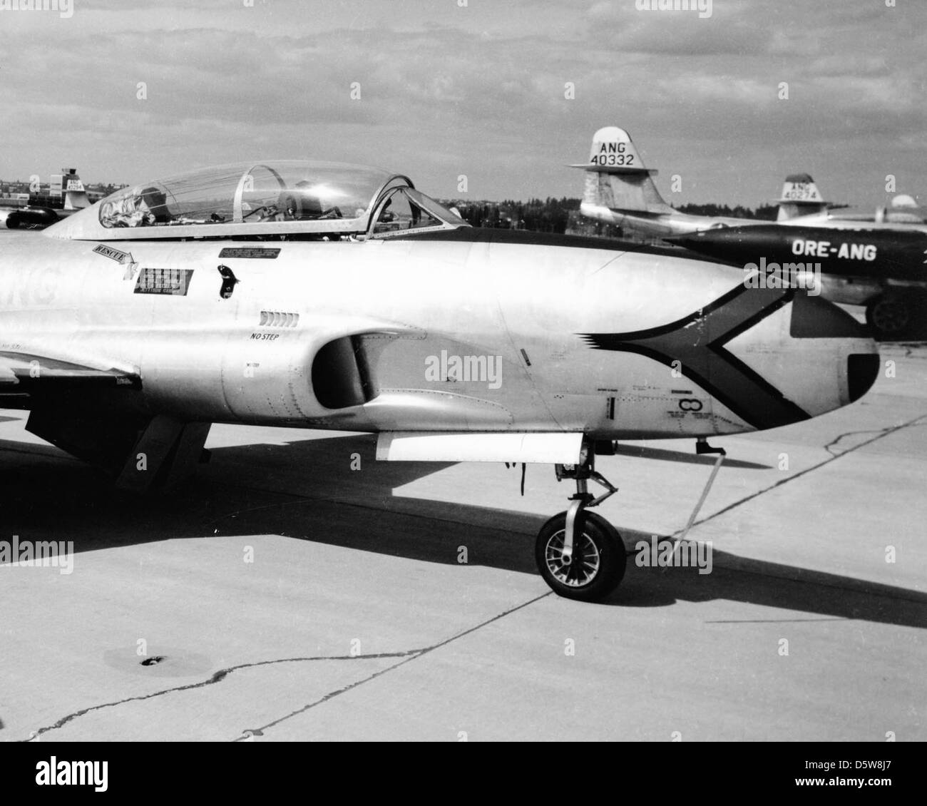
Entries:
<svg viewBox="0 0 927 806">
<path fill-rule="evenodd" d="M 756 429 L 774 429 L 810 415 L 724 345 L 794 299 L 794 288 L 732 288 L 705 308 L 669 325 L 630 333 L 580 333 L 594 350 L 636 352 L 661 364 L 679 361 L 692 378 Z"/>
</svg>

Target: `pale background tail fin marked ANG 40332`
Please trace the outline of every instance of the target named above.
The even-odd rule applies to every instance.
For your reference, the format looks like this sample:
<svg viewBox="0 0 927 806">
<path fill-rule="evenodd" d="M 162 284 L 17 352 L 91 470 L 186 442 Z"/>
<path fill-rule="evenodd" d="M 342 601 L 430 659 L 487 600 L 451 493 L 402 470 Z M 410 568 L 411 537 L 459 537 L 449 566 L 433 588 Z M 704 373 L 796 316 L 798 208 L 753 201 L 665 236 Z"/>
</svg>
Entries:
<svg viewBox="0 0 927 806">
<path fill-rule="evenodd" d="M 586 172 L 583 208 L 673 211 L 654 185 L 652 177 L 656 171 L 643 164 L 630 135 L 617 126 L 605 126 L 593 134 L 589 162 L 570 167 Z"/>
</svg>

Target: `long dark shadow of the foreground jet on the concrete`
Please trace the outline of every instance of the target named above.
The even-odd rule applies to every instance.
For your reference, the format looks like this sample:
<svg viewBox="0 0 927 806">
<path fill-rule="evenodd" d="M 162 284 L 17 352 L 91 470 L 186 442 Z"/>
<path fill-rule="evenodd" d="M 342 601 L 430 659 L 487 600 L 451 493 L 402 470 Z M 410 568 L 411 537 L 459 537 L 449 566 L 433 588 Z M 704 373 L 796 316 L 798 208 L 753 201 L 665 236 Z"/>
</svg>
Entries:
<svg viewBox="0 0 927 806">
<path fill-rule="evenodd" d="M 374 450 L 367 435 L 218 448 L 182 489 L 138 496 L 114 491 L 102 474 L 51 446 L 0 441 L 0 539 L 73 540 L 81 552 L 184 537 L 278 534 L 451 565 L 466 545 L 471 566 L 538 573 L 534 536 L 544 516 L 394 496 L 395 488 L 448 465 L 375 462 Z M 362 470 L 350 470 L 352 454 L 361 455 Z M 514 474 L 493 476 L 490 467 L 496 466 L 488 466 L 486 483 L 511 484 L 517 500 Z M 552 501 L 551 514 L 561 505 Z M 616 528 L 629 551 L 651 537 L 620 523 Z M 658 608 L 715 599 L 792 611 L 758 619 L 773 622 L 927 625 L 927 594 L 919 591 L 717 549 L 709 574 L 640 568 L 629 554 L 624 582 L 602 604 Z"/>
</svg>

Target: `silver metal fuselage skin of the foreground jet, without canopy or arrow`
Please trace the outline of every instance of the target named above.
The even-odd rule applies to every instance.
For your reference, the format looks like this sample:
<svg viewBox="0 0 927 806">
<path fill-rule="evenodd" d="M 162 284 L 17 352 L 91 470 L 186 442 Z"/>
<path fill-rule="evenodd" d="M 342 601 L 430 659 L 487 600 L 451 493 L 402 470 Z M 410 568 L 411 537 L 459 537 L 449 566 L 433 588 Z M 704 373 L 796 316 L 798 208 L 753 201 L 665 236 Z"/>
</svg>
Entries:
<svg viewBox="0 0 927 806">
<path fill-rule="evenodd" d="M 582 431 L 601 439 L 756 428 L 687 377 L 686 366 L 590 349 L 583 338 L 644 332 L 695 315 L 743 284 L 743 272 L 727 266 L 636 251 L 414 237 L 136 240 L 117 244 L 131 253 L 128 263 L 95 253 L 97 246 L 44 235 L 0 242 L 0 352 L 140 377 L 141 390 L 113 390 L 95 403 L 114 412 L 132 406 L 210 422 Z M 220 258 L 229 246 L 280 253 Z M 220 265 L 238 281 L 228 299 L 220 296 Z M 185 293 L 139 292 L 140 274 L 154 269 L 184 270 Z M 815 416 L 849 402 L 846 357 L 875 348 L 862 334 L 794 338 L 792 308 L 783 304 L 726 349 Z M 700 327 L 696 317 L 680 332 L 697 346 L 712 337 Z M 363 400 L 333 408 L 330 394 L 328 405 L 320 401 L 312 367 L 337 339 L 353 339 L 354 352 L 363 353 L 366 388 Z M 350 364 L 349 353 L 334 351 L 335 365 Z M 469 361 L 469 377 L 448 371 L 455 357 Z M 484 367 L 494 368 L 492 377 Z M 346 383 L 355 371 L 346 365 Z"/>
</svg>

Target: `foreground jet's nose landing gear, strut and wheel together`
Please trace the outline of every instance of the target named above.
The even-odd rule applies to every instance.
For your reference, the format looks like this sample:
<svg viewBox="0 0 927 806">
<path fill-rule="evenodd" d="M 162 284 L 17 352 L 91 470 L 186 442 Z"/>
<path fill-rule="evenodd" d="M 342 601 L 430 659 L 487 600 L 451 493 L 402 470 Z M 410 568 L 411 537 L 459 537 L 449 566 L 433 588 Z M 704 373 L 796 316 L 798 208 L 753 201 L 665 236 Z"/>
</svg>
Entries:
<svg viewBox="0 0 927 806">
<path fill-rule="evenodd" d="M 538 532 L 534 556 L 540 575 L 554 593 L 591 602 L 615 590 L 628 563 L 621 536 L 607 520 L 587 508 L 598 506 L 617 488 L 595 470 L 591 446 L 581 464 L 555 465 L 557 480 L 576 481 L 570 508 L 554 515 Z M 589 480 L 605 488 L 598 498 L 589 492 Z"/>
</svg>

